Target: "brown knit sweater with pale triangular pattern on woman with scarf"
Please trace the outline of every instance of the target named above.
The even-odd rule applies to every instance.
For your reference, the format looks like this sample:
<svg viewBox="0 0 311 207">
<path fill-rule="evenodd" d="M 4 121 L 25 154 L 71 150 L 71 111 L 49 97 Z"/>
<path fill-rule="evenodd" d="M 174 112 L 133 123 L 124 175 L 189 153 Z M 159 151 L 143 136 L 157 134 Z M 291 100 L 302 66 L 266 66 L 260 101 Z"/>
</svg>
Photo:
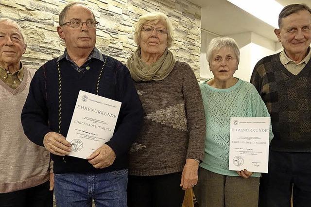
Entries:
<svg viewBox="0 0 311 207">
<path fill-rule="evenodd" d="M 202 160 L 205 117 L 195 75 L 176 62 L 161 81 L 135 83 L 144 109 L 140 135 L 130 149 L 129 174 L 161 175 L 183 170 L 187 158 Z"/>
</svg>

